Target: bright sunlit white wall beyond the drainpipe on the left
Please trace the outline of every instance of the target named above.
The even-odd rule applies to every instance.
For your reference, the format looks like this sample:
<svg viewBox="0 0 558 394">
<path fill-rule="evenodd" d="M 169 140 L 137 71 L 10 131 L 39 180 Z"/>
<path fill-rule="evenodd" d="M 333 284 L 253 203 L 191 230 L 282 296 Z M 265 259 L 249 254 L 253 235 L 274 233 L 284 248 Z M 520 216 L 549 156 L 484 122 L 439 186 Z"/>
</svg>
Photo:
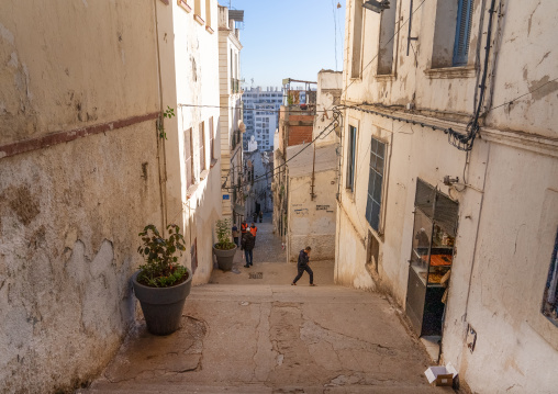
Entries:
<svg viewBox="0 0 558 394">
<path fill-rule="evenodd" d="M 219 90 L 219 34 L 217 2 L 210 2 L 212 29 L 205 30 L 177 2 L 165 5 L 156 2 L 159 18 L 159 46 L 163 71 L 163 105 L 176 108 L 177 116 L 166 122 L 166 199 L 168 223 L 181 223 L 187 239 L 183 262 L 191 266 L 190 250 L 197 240 L 198 268 L 193 284 L 207 283 L 213 269 L 212 245 L 215 241 L 215 222 L 221 216 L 220 149 L 215 149 L 217 162 L 211 166 L 210 132 L 215 143 L 220 140 Z M 204 3 L 203 3 L 204 4 Z M 203 15 L 202 15 L 203 16 Z M 188 106 L 180 106 L 187 104 Z M 199 105 L 209 105 L 199 106 Z M 210 131 L 213 117 L 213 131 Z M 200 170 L 200 123 L 205 130 L 205 168 Z M 183 132 L 193 130 L 193 168 L 196 184 L 186 188 Z"/>
</svg>

